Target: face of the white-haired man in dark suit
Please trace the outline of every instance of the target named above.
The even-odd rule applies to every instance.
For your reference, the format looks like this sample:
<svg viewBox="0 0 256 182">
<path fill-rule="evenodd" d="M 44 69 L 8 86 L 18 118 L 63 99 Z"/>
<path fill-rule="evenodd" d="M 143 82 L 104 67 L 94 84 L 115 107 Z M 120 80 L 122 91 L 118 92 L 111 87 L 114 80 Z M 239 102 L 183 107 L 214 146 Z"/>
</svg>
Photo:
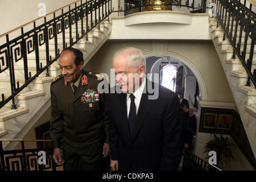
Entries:
<svg viewBox="0 0 256 182">
<path fill-rule="evenodd" d="M 113 60 L 115 71 L 115 81 L 120 85 L 121 90 L 125 93 L 134 93 L 141 83 L 141 77 L 144 75 L 144 66 L 141 65 L 138 71 L 129 67 L 127 55 L 122 54 Z"/>
</svg>

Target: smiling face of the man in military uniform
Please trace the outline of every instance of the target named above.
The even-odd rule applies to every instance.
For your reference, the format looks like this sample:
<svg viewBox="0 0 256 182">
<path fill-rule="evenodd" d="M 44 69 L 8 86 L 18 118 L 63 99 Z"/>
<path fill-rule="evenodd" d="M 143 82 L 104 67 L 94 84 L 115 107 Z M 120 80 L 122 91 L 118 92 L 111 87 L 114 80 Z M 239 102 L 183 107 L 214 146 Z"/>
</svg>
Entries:
<svg viewBox="0 0 256 182">
<path fill-rule="evenodd" d="M 77 66 L 74 60 L 75 55 L 71 51 L 64 51 L 60 55 L 60 73 L 67 82 L 76 82 L 82 70 L 82 61 Z"/>
</svg>

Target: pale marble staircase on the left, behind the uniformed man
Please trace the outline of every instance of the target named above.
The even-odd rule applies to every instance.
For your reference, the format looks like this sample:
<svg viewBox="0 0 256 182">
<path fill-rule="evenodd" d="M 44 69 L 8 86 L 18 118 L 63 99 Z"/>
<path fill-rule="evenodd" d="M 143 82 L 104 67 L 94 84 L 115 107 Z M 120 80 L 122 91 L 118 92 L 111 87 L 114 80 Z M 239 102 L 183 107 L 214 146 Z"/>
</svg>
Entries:
<svg viewBox="0 0 256 182">
<path fill-rule="evenodd" d="M 81 23 L 78 23 L 79 27 Z M 86 27 L 86 24 L 84 24 Z M 78 29 L 81 35 L 81 28 Z M 72 26 L 72 31 L 75 31 L 75 25 Z M 84 65 L 90 60 L 90 58 L 100 49 L 100 47 L 108 40 L 110 32 L 112 31 L 112 21 L 104 20 L 100 23 L 100 28 L 95 27 L 92 31 L 88 32 L 79 42 L 73 47 L 78 48 L 84 54 Z M 69 45 L 69 30 L 65 31 L 65 41 Z M 75 34 L 72 33 L 75 37 Z M 87 38 L 87 39 L 86 39 Z M 63 50 L 63 38 L 62 34 L 58 35 L 57 46 L 59 51 Z M 51 59 L 55 57 L 55 44 L 54 39 L 49 41 L 49 55 Z M 31 76 L 36 74 L 35 52 L 28 54 L 28 72 Z M 42 66 L 46 65 L 46 46 L 43 44 L 39 47 L 39 60 Z M 11 109 L 12 102 L 8 102 L 4 107 L 0 109 L 0 139 L 15 139 L 22 138 L 29 128 L 31 123 L 35 123 L 35 118 L 38 115 L 44 114 L 50 104 L 51 94 L 49 92 L 51 81 L 57 75 L 60 75 L 59 71 L 59 59 L 56 60 L 49 67 L 49 77 L 46 77 L 46 71 L 41 73 L 35 78 L 26 88 L 22 90 L 17 96 L 15 96 L 15 104 L 18 109 Z M 23 60 L 20 60 L 14 64 L 15 81 L 19 81 L 19 85 L 24 83 L 24 68 Z M 11 95 L 10 86 L 10 73 L 7 69 L 0 75 L 0 92 L 5 94 L 5 99 Z M 35 117 L 37 115 L 37 117 Z M 12 150 L 9 143 L 5 142 L 3 148 Z"/>
</svg>

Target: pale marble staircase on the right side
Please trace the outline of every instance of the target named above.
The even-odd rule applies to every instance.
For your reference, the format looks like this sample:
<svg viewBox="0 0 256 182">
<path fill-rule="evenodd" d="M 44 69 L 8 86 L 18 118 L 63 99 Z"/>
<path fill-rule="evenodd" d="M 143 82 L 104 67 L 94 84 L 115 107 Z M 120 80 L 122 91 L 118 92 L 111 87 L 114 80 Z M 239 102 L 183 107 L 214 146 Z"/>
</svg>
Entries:
<svg viewBox="0 0 256 182">
<path fill-rule="evenodd" d="M 238 30 L 240 30 L 239 27 Z M 209 34 L 216 48 L 216 52 L 218 53 L 218 57 L 220 58 L 221 65 L 242 119 L 243 127 L 256 158 L 256 89 L 252 83 L 251 86 L 245 86 L 248 77 L 247 72 L 237 56 L 233 59 L 233 47 L 228 39 L 223 40 L 224 31 L 220 26 L 217 27 L 216 18 L 209 18 Z M 244 35 L 245 34 L 242 33 L 241 50 L 243 48 Z M 250 40 L 248 43 L 250 45 Z M 248 58 L 249 50 L 246 50 L 246 60 Z M 252 70 L 253 69 L 256 69 L 256 47 L 254 48 Z"/>
</svg>

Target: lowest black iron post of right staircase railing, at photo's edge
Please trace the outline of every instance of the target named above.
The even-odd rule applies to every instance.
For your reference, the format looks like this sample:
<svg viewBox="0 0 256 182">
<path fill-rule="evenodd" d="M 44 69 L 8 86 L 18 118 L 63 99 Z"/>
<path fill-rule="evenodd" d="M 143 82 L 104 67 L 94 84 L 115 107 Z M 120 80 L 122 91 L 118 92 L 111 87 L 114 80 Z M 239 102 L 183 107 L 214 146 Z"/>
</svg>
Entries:
<svg viewBox="0 0 256 182">
<path fill-rule="evenodd" d="M 251 47 L 250 47 L 250 56 L 249 59 L 247 60 L 247 68 L 249 70 L 249 72 L 251 72 L 251 66 L 253 64 L 253 54 L 254 54 L 254 46 L 255 46 L 255 41 L 256 41 L 256 24 L 255 24 L 255 20 L 254 20 L 254 27 L 252 28 L 251 31 Z M 248 28 L 249 29 L 249 28 Z M 254 81 L 255 79 L 255 69 L 254 69 L 254 73 L 253 73 L 253 77 L 254 77 Z M 255 85 L 255 82 L 253 83 Z M 250 77 L 248 76 L 247 81 L 246 81 L 246 86 L 250 86 Z"/>
</svg>

